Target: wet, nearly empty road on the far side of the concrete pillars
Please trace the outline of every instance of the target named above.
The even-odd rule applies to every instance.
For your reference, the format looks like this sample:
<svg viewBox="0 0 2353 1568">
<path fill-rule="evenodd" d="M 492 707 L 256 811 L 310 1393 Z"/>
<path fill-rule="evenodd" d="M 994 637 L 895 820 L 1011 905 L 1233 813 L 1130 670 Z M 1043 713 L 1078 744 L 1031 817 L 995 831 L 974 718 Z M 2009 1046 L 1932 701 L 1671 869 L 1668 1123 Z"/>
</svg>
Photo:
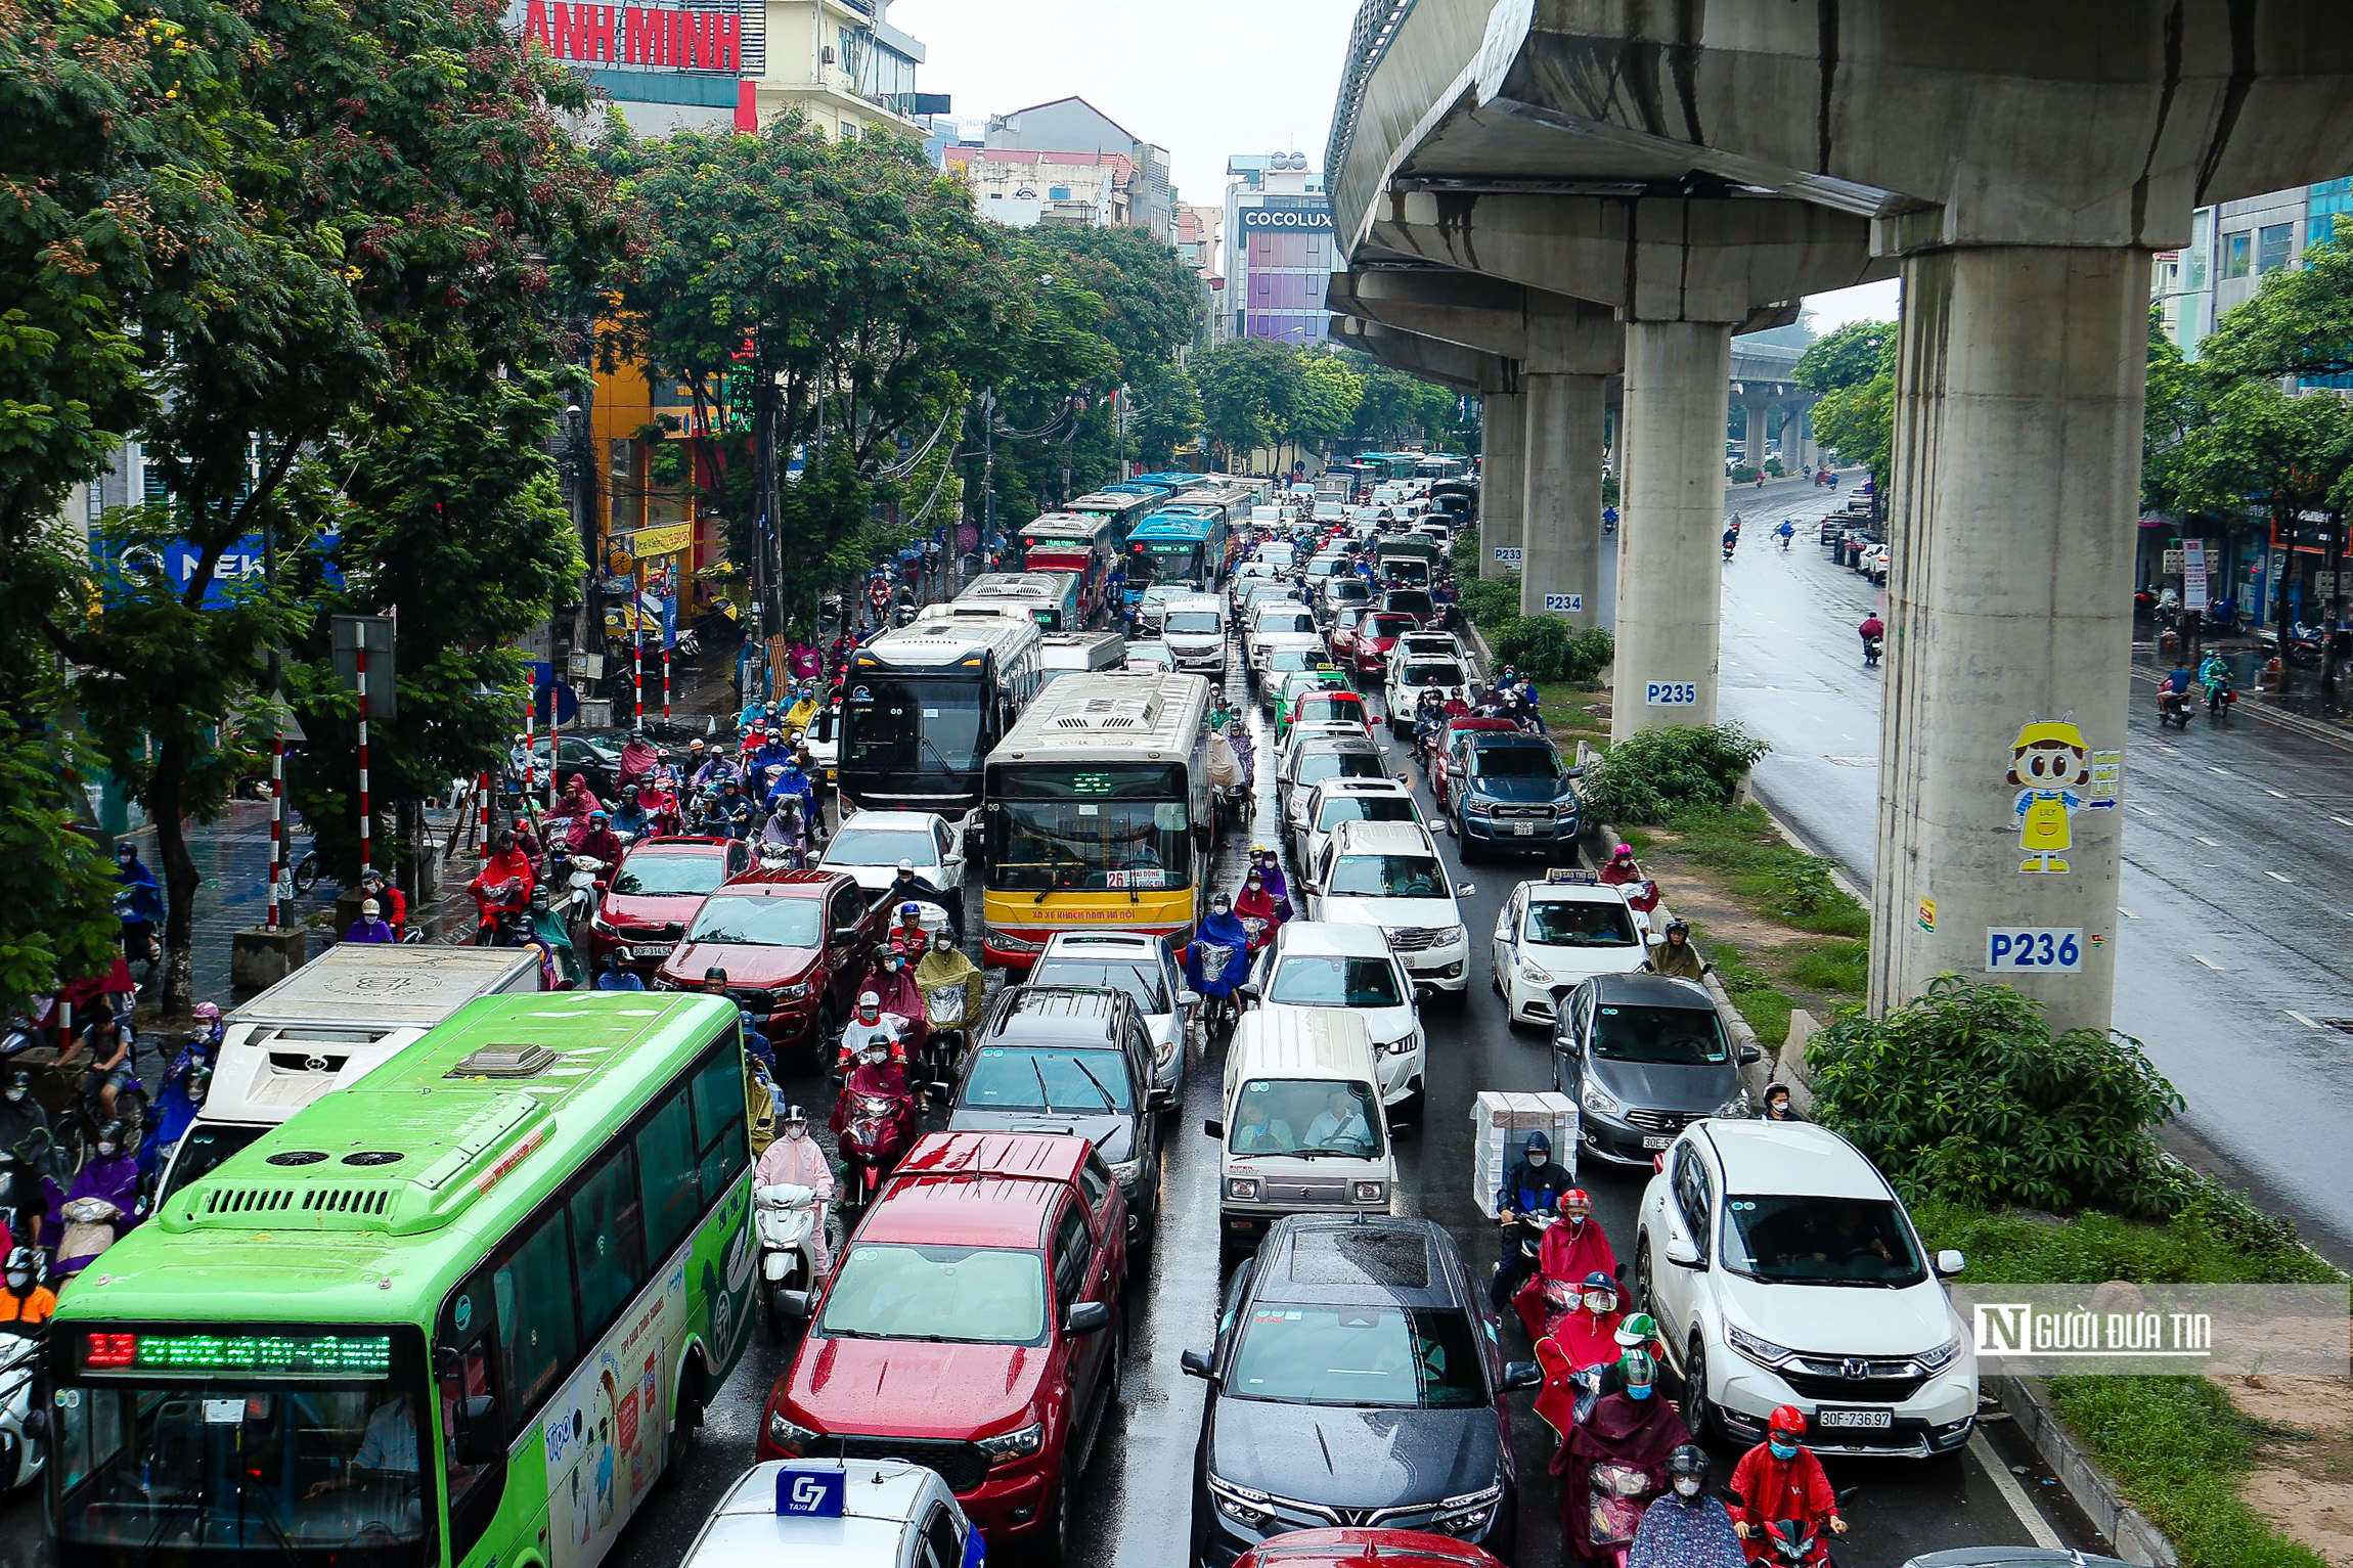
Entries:
<svg viewBox="0 0 2353 1568">
<path fill-rule="evenodd" d="M 1882 689 L 1854 625 L 1887 592 L 1814 543 L 1845 494 L 1786 482 L 1729 505 L 1722 717 L 1772 743 L 1755 790 L 1774 816 L 1868 884 Z M 1800 520 L 1786 557 L 1765 538 L 1781 517 Z M 2353 1020 L 2353 755 L 2247 712 L 2160 733 L 2153 703 L 2137 679 L 2115 1027 L 2188 1100 L 2181 1152 L 2353 1265 L 2353 1034 L 2327 1023 Z"/>
</svg>

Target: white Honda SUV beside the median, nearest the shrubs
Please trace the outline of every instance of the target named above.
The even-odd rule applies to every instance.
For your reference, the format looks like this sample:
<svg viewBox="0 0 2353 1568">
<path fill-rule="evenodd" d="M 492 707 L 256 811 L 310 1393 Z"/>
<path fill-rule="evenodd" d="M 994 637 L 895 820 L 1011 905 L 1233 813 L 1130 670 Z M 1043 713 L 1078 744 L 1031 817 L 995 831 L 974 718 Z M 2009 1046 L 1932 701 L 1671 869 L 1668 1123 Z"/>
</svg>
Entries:
<svg viewBox="0 0 2353 1568">
<path fill-rule="evenodd" d="M 1694 1121 L 1642 1192 L 1635 1288 L 1701 1441 L 1755 1443 L 1774 1406 L 1817 1453 L 1969 1441 L 1977 1352 L 1887 1178 L 1828 1128 Z"/>
</svg>

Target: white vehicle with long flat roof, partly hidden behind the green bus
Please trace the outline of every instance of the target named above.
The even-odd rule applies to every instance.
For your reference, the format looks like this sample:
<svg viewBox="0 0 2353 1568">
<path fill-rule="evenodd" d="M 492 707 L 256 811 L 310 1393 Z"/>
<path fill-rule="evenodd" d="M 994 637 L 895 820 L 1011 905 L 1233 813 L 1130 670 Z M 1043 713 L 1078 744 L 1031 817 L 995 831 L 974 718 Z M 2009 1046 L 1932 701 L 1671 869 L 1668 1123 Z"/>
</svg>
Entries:
<svg viewBox="0 0 2353 1568">
<path fill-rule="evenodd" d="M 155 1206 L 329 1088 L 346 1088 L 480 997 L 539 990 L 522 947 L 336 943 L 221 1020 L 205 1107 Z"/>
</svg>

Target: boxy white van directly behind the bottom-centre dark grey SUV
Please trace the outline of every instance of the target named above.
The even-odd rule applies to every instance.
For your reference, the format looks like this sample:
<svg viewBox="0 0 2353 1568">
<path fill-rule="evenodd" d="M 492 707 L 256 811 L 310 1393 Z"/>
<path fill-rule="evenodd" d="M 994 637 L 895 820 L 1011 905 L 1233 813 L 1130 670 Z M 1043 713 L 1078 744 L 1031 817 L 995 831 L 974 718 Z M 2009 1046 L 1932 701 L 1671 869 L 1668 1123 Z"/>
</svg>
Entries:
<svg viewBox="0 0 2353 1568">
<path fill-rule="evenodd" d="M 1344 1009 L 1257 1009 L 1226 1046 L 1219 1260 L 1287 1213 L 1391 1213 L 1398 1157 L 1372 1030 Z"/>
</svg>

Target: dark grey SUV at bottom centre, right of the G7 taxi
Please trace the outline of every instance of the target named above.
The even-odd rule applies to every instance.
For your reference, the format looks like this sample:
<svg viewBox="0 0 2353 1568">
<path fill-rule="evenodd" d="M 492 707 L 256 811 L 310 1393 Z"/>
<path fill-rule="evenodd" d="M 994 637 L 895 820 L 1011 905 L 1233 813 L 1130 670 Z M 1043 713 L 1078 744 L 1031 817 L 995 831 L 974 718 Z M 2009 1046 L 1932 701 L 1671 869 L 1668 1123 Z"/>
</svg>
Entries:
<svg viewBox="0 0 2353 1568">
<path fill-rule="evenodd" d="M 1287 1215 L 1226 1288 L 1193 1455 L 1193 1561 L 1334 1526 L 1454 1535 L 1511 1561 L 1518 1481 L 1494 1309 L 1431 1220 Z"/>
</svg>

